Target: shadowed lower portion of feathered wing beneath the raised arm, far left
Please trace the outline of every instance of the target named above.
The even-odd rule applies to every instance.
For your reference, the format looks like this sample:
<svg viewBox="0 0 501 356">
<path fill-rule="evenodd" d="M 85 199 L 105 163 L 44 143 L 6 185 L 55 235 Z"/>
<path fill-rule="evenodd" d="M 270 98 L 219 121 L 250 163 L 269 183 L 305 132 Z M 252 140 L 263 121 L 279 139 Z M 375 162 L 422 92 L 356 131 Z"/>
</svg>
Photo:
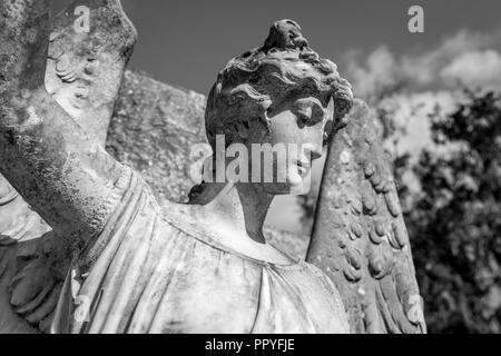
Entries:
<svg viewBox="0 0 501 356">
<path fill-rule="evenodd" d="M 58 286 L 40 243 L 50 230 L 0 176 L 0 333 L 48 327 L 43 320 L 55 307 Z"/>
</svg>

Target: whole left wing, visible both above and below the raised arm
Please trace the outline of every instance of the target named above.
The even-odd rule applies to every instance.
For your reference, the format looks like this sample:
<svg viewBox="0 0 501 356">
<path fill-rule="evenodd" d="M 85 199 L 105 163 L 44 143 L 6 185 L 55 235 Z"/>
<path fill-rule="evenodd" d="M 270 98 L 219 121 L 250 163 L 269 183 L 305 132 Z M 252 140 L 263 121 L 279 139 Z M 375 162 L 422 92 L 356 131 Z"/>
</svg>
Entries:
<svg viewBox="0 0 501 356">
<path fill-rule="evenodd" d="M 46 88 L 102 145 L 136 37 L 118 0 L 75 1 L 52 22 Z M 71 259 L 0 176 L 0 333 L 49 329 Z"/>
</svg>

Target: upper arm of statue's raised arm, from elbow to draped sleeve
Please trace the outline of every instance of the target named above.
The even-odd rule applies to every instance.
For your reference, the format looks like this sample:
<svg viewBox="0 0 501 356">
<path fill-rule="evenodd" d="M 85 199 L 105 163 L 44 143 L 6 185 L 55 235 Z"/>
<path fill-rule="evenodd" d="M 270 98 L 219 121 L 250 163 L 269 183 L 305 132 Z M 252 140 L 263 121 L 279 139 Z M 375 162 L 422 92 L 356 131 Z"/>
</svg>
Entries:
<svg viewBox="0 0 501 356">
<path fill-rule="evenodd" d="M 56 230 L 97 233 L 122 169 L 43 88 L 0 109 L 0 171 Z"/>
</svg>

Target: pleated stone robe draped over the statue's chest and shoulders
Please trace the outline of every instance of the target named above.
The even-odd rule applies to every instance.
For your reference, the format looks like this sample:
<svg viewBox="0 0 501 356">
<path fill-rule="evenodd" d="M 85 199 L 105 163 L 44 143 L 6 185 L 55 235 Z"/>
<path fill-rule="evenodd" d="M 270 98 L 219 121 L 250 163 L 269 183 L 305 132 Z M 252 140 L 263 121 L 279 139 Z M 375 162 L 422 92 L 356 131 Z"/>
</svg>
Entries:
<svg viewBox="0 0 501 356">
<path fill-rule="evenodd" d="M 219 245 L 174 204 L 160 207 L 132 169 L 124 167 L 106 205 L 112 214 L 68 274 L 52 332 L 350 332 L 320 269 Z"/>
</svg>

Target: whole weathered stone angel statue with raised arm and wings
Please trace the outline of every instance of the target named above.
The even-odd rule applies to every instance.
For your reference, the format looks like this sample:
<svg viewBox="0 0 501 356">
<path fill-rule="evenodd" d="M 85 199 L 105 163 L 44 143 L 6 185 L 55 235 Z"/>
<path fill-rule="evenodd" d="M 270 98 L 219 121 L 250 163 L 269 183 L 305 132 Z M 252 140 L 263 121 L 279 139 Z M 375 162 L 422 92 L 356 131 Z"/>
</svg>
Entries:
<svg viewBox="0 0 501 356">
<path fill-rule="evenodd" d="M 100 2 L 94 12 L 98 16 L 100 9 L 117 10 L 117 1 Z M 215 151 L 218 136 L 228 147 L 240 145 L 248 151 L 265 144 L 298 145 L 301 150 L 292 151 L 285 167 L 273 160 L 271 181 L 263 175 L 255 181 L 243 177 L 256 166 L 250 158 L 248 170 L 238 171 L 243 179 L 206 181 L 193 190 L 189 204 L 160 205 L 146 181 L 109 156 L 102 136 L 92 131 L 109 120 L 130 51 L 96 56 L 87 49 L 84 75 L 75 75 L 71 70 L 79 66 L 68 65 L 70 55 L 65 58 L 73 49 L 50 56 L 47 1 L 2 1 L 0 18 L 0 171 L 53 229 L 49 233 L 37 220 L 38 235 L 51 234 L 50 244 L 65 246 L 60 259 L 68 260 L 62 267 L 66 279 L 56 291 L 51 280 L 39 290 L 18 293 L 36 299 L 16 299 L 18 314 L 31 315 L 30 323 L 46 318 L 52 333 L 350 333 L 364 327 L 369 332 L 422 327 L 409 241 L 377 140 L 369 135 L 364 142 L 370 146 L 360 144 L 371 129 L 356 112 L 347 116 L 353 106 L 350 85 L 333 62 L 310 48 L 297 23 L 276 22 L 262 47 L 234 58 L 219 73 L 207 101 L 206 131 Z M 134 37 L 128 24 L 124 23 Z M 60 80 L 55 90 L 46 77 L 51 58 L 57 58 Z M 102 105 L 82 100 L 102 88 L 89 80 L 92 70 L 102 68 L 110 73 Z M 68 87 L 77 78 L 78 88 Z M 86 127 L 79 122 L 81 116 L 95 125 Z M 318 268 L 266 243 L 263 222 L 274 196 L 304 188 L 311 160 L 321 157 L 331 134 L 335 135 L 330 159 L 340 159 L 342 167 L 334 162 L 340 168 L 326 170 L 335 184 L 323 189 L 340 198 L 323 195 L 320 204 L 308 254 Z M 371 159 L 377 165 L 371 166 Z M 216 157 L 215 175 L 229 165 Z M 285 179 L 278 181 L 281 175 Z M 356 200 L 361 196 L 372 200 Z M 382 199 L 387 210 L 381 209 Z M 332 210 L 331 202 L 338 202 L 334 208 L 340 210 Z M 330 230 L 320 227 L 324 219 Z M 376 247 L 371 248 L 371 241 Z M 12 246 L 33 248 L 17 240 Z M 371 259 L 370 253 L 380 260 Z M 6 259 L 0 258 L 1 266 Z M 8 263 L 11 259 L 9 255 Z M 22 269 L 17 279 L 32 280 L 37 267 Z M 37 281 L 48 283 L 46 277 Z M 24 286 L 21 289 L 32 288 Z M 370 303 L 361 298 L 364 293 Z M 47 303 L 49 295 L 57 297 Z M 358 315 L 369 315 L 362 322 L 353 313 L 361 305 Z M 32 315 L 33 310 L 38 313 Z"/>
</svg>

